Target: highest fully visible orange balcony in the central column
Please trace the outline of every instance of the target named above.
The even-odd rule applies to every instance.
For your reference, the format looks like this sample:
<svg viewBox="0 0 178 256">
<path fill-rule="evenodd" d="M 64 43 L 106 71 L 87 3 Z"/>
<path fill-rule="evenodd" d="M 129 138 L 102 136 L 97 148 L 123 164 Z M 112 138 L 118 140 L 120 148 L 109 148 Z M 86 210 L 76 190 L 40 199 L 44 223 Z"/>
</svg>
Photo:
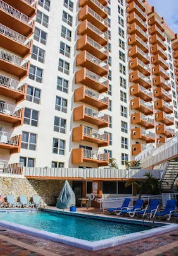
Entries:
<svg viewBox="0 0 178 256">
<path fill-rule="evenodd" d="M 103 32 L 108 30 L 108 22 L 93 11 L 88 5 L 85 5 L 78 13 L 78 20 L 88 20 L 91 24 L 95 25 Z"/>
</svg>

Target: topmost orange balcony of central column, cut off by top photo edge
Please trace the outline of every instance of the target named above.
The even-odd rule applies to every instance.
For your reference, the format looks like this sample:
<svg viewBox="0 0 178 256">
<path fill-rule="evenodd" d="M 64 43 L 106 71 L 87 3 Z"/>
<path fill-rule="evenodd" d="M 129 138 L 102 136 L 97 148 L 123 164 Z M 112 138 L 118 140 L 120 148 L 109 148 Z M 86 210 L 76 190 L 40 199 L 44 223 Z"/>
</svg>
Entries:
<svg viewBox="0 0 178 256">
<path fill-rule="evenodd" d="M 79 0 L 79 7 L 84 7 L 85 5 L 88 5 L 95 13 L 100 15 L 102 18 L 107 18 L 108 11 L 107 7 L 102 5 L 97 0 Z"/>
</svg>

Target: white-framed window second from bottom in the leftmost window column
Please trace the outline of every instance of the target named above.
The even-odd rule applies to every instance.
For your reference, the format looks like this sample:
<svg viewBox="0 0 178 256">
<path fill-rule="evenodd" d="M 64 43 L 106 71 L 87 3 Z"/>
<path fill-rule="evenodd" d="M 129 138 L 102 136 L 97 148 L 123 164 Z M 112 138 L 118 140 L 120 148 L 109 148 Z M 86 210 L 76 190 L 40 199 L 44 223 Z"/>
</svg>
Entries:
<svg viewBox="0 0 178 256">
<path fill-rule="evenodd" d="M 36 150 L 37 135 L 35 133 L 28 133 L 22 131 L 21 148 Z"/>
</svg>

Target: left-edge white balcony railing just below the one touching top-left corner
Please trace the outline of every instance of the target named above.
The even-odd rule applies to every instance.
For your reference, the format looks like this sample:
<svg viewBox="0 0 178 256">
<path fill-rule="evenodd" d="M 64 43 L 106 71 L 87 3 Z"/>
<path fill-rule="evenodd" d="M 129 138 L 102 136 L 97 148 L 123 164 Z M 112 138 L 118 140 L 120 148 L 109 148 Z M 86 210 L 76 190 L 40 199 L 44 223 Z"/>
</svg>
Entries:
<svg viewBox="0 0 178 256">
<path fill-rule="evenodd" d="M 30 40 L 28 40 L 27 37 L 19 34 L 18 32 L 4 26 L 0 23 L 0 34 L 3 34 L 11 39 L 13 39 L 16 42 L 19 42 L 20 44 L 24 44 L 25 46 L 30 46 Z"/>
</svg>

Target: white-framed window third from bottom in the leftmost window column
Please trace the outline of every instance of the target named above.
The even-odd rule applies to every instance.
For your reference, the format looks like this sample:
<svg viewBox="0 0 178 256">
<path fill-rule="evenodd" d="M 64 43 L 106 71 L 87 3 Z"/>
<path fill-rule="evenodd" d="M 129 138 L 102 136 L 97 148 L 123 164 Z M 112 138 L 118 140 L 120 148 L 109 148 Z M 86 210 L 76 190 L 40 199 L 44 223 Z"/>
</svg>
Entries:
<svg viewBox="0 0 178 256">
<path fill-rule="evenodd" d="M 23 123 L 32 126 L 38 126 L 38 111 L 25 108 Z"/>
</svg>

